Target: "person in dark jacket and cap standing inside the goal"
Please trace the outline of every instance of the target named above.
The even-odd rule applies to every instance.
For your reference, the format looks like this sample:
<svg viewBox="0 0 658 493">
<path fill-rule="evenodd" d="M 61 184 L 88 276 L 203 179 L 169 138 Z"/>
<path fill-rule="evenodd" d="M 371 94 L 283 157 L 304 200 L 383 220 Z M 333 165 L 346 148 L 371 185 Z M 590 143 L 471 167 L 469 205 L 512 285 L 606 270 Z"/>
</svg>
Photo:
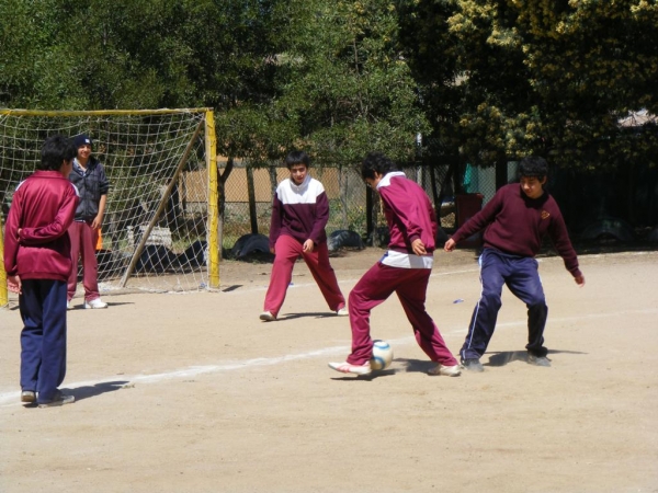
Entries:
<svg viewBox="0 0 658 493">
<path fill-rule="evenodd" d="M 87 135 L 73 138 L 78 156 L 69 180 L 78 188 L 80 205 L 76 220 L 69 228 L 71 237 L 71 260 L 73 265 L 68 279 L 67 308 L 72 308 L 71 299 L 78 284 L 78 260 L 82 257 L 82 285 L 84 286 L 84 308 L 107 308 L 99 294 L 99 264 L 95 246 L 99 230 L 103 223 L 110 183 L 101 162 L 91 156 L 92 141 Z"/>
</svg>

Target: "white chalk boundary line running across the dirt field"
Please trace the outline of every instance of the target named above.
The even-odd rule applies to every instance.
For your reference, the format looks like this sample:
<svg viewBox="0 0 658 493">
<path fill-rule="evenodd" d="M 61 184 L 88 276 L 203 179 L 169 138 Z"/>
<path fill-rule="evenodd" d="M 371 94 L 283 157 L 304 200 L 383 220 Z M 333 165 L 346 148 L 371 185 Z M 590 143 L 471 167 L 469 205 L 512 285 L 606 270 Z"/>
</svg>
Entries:
<svg viewBox="0 0 658 493">
<path fill-rule="evenodd" d="M 578 316 L 578 317 L 552 318 L 551 321 L 553 324 L 556 322 L 557 323 L 575 322 L 575 321 L 583 320 L 583 319 L 591 320 L 591 319 L 604 319 L 604 318 L 609 318 L 609 317 L 627 317 L 628 314 L 647 314 L 647 316 L 649 316 L 649 314 L 656 314 L 656 313 L 658 313 L 658 309 L 648 308 L 648 309 L 644 309 L 644 310 L 623 310 L 623 311 L 606 312 L 606 313 L 588 313 L 588 314 Z M 520 320 L 520 321 L 514 321 L 514 322 L 499 323 L 496 325 L 496 328 L 501 329 L 501 328 L 512 328 L 512 326 L 518 326 L 518 325 L 524 326 L 524 325 L 526 325 L 526 323 L 527 323 L 526 320 Z M 458 334 L 458 333 L 465 333 L 466 329 L 451 329 L 449 331 L 441 331 L 441 332 L 442 332 L 442 334 Z M 415 344 L 416 339 L 413 335 L 409 335 L 406 337 L 390 340 L 389 342 L 393 346 L 406 345 L 406 344 Z M 92 387 L 92 386 L 95 386 L 99 383 L 107 383 L 107 382 L 116 381 L 117 379 L 118 380 L 127 380 L 127 383 L 125 383 L 124 386 L 129 386 L 129 385 L 138 383 L 138 382 L 157 383 L 160 381 L 171 380 L 174 378 L 189 378 L 189 377 L 194 377 L 197 375 L 234 371 L 234 370 L 245 369 L 245 368 L 249 368 L 249 367 L 283 365 L 283 364 L 286 364 L 290 362 L 296 362 L 296 360 L 302 360 L 302 359 L 313 359 L 313 358 L 317 358 L 320 356 L 345 354 L 349 352 L 350 352 L 350 346 L 347 346 L 347 345 L 345 346 L 332 346 L 332 347 L 325 347 L 325 348 L 320 348 L 320 349 L 316 349 L 316 351 L 309 351 L 306 353 L 288 354 L 288 355 L 284 355 L 284 356 L 272 357 L 272 358 L 252 358 L 252 359 L 245 359 L 245 360 L 237 360 L 237 362 L 228 362 L 228 363 L 223 363 L 223 364 L 217 364 L 217 365 L 190 366 L 188 368 L 164 371 L 161 374 L 134 375 L 132 377 L 120 375 L 120 376 L 113 376 L 112 378 L 105 378 L 105 379 L 99 379 L 99 380 L 71 382 L 71 383 L 66 385 L 65 388 L 75 390 L 80 387 Z M 19 397 L 20 397 L 20 392 L 18 389 L 11 390 L 11 391 L 5 390 L 3 392 L 0 392 L 0 408 L 20 405 L 20 403 L 18 402 Z"/>
</svg>

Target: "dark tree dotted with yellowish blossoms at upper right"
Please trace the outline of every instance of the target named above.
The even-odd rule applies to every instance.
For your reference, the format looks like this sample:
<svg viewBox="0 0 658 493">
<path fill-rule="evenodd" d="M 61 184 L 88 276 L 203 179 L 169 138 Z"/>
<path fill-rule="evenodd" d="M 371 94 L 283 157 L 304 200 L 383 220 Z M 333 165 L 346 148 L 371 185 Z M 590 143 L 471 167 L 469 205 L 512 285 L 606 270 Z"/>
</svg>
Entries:
<svg viewBox="0 0 658 493">
<path fill-rule="evenodd" d="M 627 129 L 628 112 L 656 114 L 658 4 L 555 0 L 462 0 L 449 20 L 470 94 L 464 152 L 549 154 L 560 165 L 658 163 L 655 124 Z"/>
</svg>

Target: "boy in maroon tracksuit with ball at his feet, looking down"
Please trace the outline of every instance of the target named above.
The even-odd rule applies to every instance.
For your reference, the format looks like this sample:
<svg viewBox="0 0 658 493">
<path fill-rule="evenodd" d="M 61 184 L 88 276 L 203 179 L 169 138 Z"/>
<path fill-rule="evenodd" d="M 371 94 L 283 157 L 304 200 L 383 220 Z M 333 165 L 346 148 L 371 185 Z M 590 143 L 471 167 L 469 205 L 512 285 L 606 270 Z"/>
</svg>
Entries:
<svg viewBox="0 0 658 493">
<path fill-rule="evenodd" d="M 352 353 L 344 363 L 329 367 L 343 372 L 371 372 L 373 340 L 370 334 L 370 313 L 396 293 L 411 322 L 420 348 L 436 363 L 430 375 L 456 377 L 460 365 L 424 308 L 428 282 L 432 272 L 436 218 L 424 191 L 393 161 L 378 152 L 370 153 L 362 163 L 361 175 L 368 186 L 379 193 L 388 222 L 388 251 L 366 272 L 350 293 L 350 324 Z"/>
</svg>

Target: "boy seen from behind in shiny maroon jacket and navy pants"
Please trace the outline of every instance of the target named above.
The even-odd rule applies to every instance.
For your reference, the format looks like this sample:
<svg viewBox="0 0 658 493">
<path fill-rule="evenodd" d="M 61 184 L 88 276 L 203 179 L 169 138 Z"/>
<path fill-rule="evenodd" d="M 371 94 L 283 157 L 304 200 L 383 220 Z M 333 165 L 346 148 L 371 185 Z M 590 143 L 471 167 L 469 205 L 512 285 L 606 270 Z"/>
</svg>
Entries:
<svg viewBox="0 0 658 493">
<path fill-rule="evenodd" d="M 66 285 L 71 271 L 68 227 L 78 193 L 68 181 L 77 149 L 46 139 L 41 165 L 16 187 L 4 228 L 4 270 L 19 293 L 21 401 L 49 408 L 73 402 L 58 389 L 66 375 Z"/>
</svg>

